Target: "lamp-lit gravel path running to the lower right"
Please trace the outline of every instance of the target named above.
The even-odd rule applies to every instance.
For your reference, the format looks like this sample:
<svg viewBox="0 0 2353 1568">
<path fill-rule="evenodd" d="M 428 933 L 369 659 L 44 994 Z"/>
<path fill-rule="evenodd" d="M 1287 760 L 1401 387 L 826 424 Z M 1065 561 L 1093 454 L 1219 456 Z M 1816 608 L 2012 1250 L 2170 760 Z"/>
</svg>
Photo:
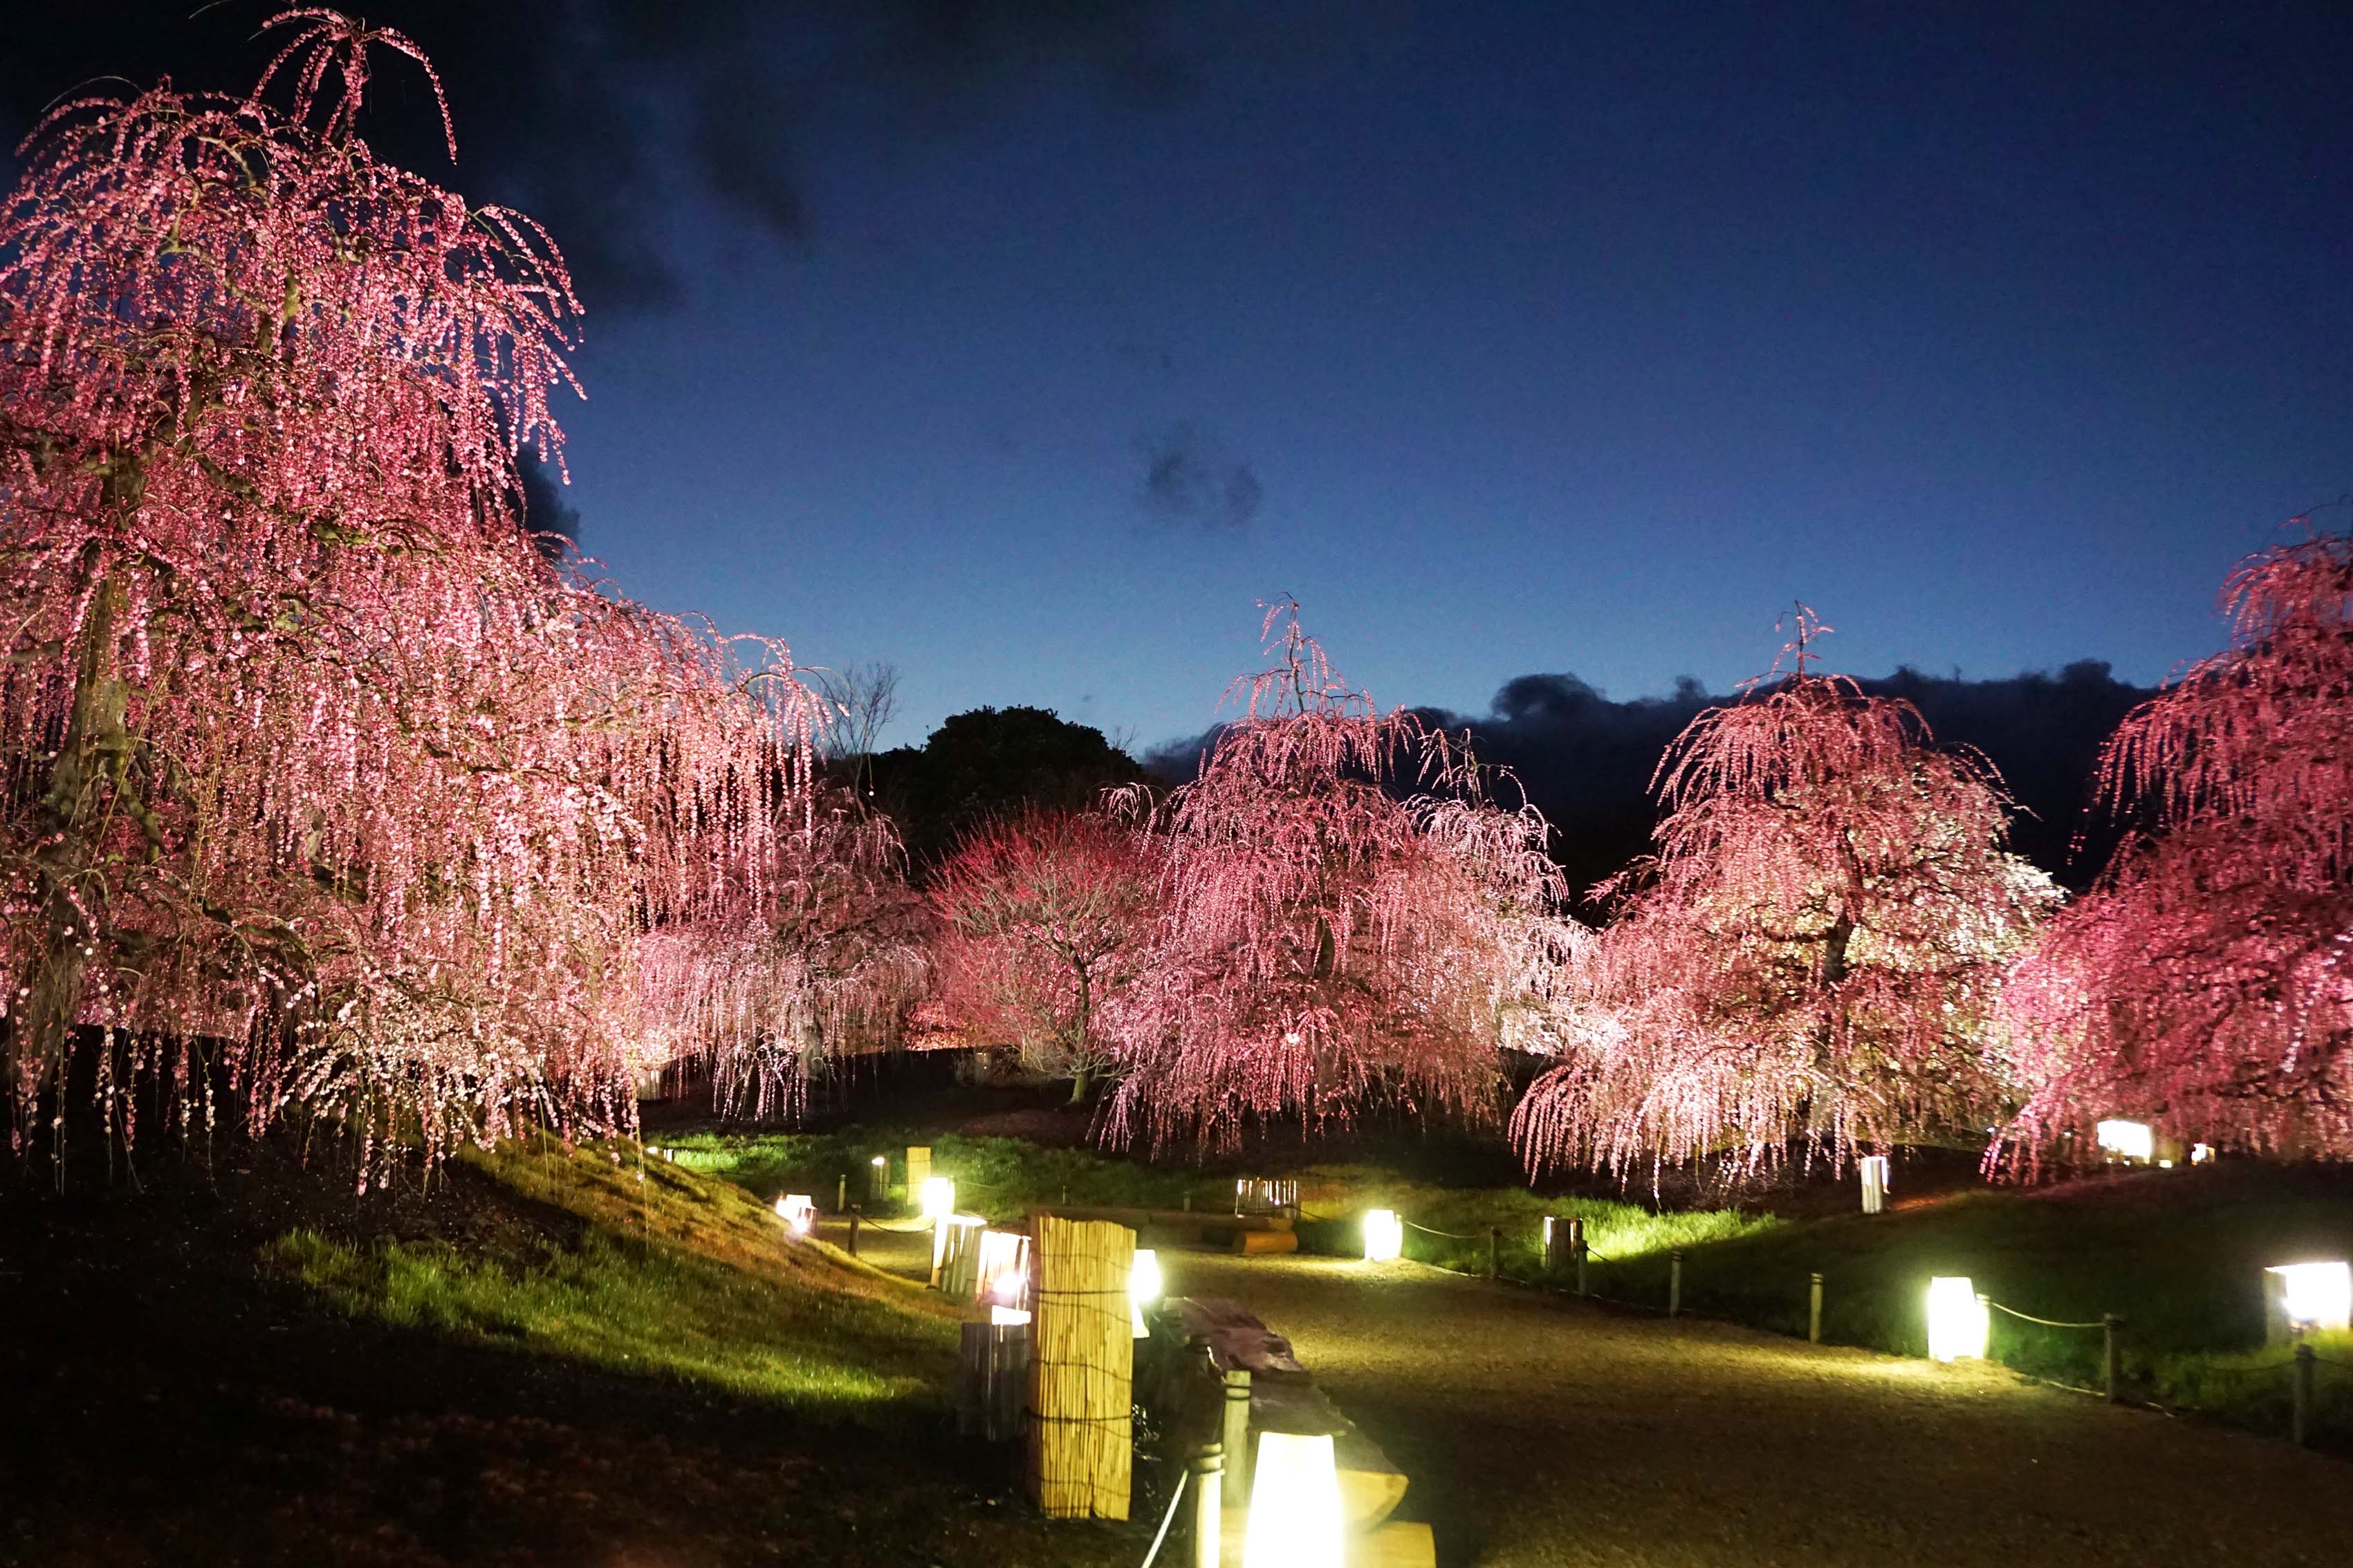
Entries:
<svg viewBox="0 0 2353 1568">
<path fill-rule="evenodd" d="M 2353 1467 L 1998 1368 L 1668 1324 L 1412 1262 L 1160 1253 L 1292 1338 L 1442 1568 L 2353 1563 Z"/>
</svg>

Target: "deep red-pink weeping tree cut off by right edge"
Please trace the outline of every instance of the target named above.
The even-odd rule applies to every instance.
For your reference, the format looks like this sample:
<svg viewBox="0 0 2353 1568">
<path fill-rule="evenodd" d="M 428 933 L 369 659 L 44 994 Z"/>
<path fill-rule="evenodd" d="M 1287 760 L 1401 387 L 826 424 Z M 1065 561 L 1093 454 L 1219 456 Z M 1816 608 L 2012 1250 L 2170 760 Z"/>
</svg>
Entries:
<svg viewBox="0 0 2353 1568">
<path fill-rule="evenodd" d="M 2017 966 L 2002 1018 L 2028 1100 L 1988 1154 L 2089 1150 L 2104 1117 L 2181 1140 L 2353 1154 L 2353 543 L 2249 557 L 2231 646 L 2108 741 L 2108 804 L 2155 835 Z"/>
</svg>

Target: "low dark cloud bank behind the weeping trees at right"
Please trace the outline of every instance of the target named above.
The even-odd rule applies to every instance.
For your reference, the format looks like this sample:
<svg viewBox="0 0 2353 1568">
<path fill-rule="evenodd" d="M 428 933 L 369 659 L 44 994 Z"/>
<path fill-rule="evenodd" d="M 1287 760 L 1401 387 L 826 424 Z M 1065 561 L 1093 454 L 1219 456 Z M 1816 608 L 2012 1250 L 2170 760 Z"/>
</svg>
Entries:
<svg viewBox="0 0 2353 1568">
<path fill-rule="evenodd" d="M 1913 703 L 1941 745 L 1974 745 L 1993 759 L 2026 806 L 2012 825 L 2019 853 L 2071 886 L 2099 872 L 2118 825 L 2087 811 L 2092 769 L 2118 719 L 2146 701 L 2148 689 L 2118 682 L 2097 661 L 2007 679 L 1906 668 L 1861 686 Z M 1447 729 L 1471 729 L 1482 762 L 1520 776 L 1558 830 L 1553 853 L 1584 891 L 1649 849 L 1657 820 L 1649 778 L 1661 752 L 1699 710 L 1725 701 L 1732 698 L 1708 696 L 1689 677 L 1675 682 L 1671 696 L 1619 703 L 1574 675 L 1520 675 L 1494 693 L 1482 717 L 1419 712 Z M 1169 780 L 1188 778 L 1214 733 L 1158 748 L 1146 766 Z"/>
</svg>

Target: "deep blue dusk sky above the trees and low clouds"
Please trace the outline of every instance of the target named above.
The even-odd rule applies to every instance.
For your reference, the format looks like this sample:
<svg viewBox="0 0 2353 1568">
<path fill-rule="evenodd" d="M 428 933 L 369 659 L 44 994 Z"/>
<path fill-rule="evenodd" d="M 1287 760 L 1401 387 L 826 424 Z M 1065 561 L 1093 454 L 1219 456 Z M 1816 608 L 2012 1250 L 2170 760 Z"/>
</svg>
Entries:
<svg viewBox="0 0 2353 1568">
<path fill-rule="evenodd" d="M 7 0 L 9 132 L 242 87 L 271 7 L 191 9 Z M 586 550 L 896 663 L 892 738 L 1200 731 L 1280 592 L 1471 715 L 1725 691 L 1793 597 L 1864 675 L 2151 684 L 2353 489 L 2353 7 L 365 12 L 581 266 Z"/>
</svg>

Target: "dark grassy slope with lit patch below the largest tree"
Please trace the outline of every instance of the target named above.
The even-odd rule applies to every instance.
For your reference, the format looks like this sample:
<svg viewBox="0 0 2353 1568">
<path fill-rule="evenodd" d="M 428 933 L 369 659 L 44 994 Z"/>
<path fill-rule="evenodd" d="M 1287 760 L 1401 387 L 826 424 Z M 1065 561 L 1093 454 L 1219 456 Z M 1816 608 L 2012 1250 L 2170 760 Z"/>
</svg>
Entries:
<svg viewBox="0 0 2353 1568">
<path fill-rule="evenodd" d="M 958 1443 L 955 1321 L 607 1152 L 0 1197 L 0 1563 L 1127 1563 Z M 642 1197 L 642 1204 L 640 1204 Z"/>
</svg>

